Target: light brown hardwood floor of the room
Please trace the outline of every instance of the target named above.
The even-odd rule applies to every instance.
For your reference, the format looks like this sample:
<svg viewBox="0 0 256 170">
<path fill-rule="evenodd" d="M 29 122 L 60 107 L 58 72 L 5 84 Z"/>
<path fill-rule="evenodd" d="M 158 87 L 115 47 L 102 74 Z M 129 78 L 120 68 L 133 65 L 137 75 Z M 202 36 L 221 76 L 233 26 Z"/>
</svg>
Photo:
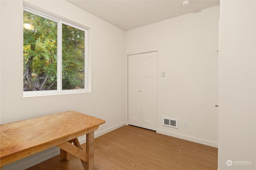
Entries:
<svg viewBox="0 0 256 170">
<path fill-rule="evenodd" d="M 217 170 L 217 161 L 217 148 L 130 125 L 94 143 L 94 170 Z M 58 155 L 27 170 L 83 170 L 83 166 L 72 155 L 69 161 Z"/>
</svg>

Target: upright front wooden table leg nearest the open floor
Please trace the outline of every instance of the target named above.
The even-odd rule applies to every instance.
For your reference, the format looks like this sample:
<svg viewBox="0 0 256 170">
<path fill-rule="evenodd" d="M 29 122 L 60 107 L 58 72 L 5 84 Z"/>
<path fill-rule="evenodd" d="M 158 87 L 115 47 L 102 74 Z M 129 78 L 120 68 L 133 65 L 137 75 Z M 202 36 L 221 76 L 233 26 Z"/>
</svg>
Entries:
<svg viewBox="0 0 256 170">
<path fill-rule="evenodd" d="M 87 154 L 86 170 L 93 170 L 94 168 L 94 131 L 86 134 L 86 154 Z"/>
</svg>

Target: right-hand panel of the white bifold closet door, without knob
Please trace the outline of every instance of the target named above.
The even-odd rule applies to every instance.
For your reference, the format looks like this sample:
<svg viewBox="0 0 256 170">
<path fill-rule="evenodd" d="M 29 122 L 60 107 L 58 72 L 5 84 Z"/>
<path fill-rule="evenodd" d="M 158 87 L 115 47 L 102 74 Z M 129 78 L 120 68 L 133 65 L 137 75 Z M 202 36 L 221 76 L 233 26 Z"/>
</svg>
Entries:
<svg viewBox="0 0 256 170">
<path fill-rule="evenodd" d="M 157 127 L 157 52 L 142 54 L 142 127 Z"/>
</svg>

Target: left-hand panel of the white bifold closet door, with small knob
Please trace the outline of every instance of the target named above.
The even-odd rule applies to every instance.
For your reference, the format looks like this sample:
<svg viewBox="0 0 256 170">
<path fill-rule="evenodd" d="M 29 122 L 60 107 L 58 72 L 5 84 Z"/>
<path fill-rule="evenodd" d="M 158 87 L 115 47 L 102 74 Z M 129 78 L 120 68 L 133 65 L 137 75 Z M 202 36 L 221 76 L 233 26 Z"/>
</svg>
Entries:
<svg viewBox="0 0 256 170">
<path fill-rule="evenodd" d="M 142 127 L 141 54 L 128 56 L 128 123 Z"/>
</svg>

